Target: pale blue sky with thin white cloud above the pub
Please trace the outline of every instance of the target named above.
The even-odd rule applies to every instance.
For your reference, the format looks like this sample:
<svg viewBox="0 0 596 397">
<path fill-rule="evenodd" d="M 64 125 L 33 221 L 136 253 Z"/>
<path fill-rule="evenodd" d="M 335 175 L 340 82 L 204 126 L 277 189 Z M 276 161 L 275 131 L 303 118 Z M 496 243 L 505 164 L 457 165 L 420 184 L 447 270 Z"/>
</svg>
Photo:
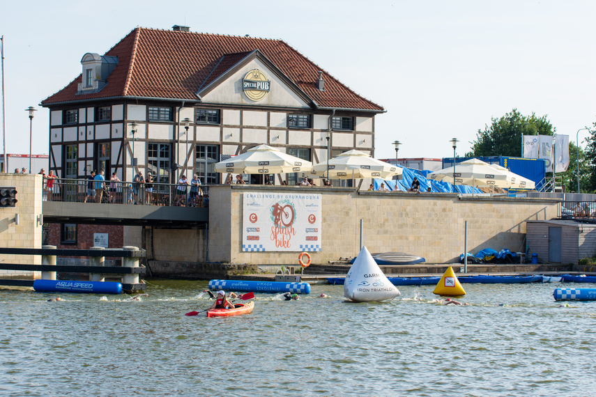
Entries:
<svg viewBox="0 0 596 397">
<path fill-rule="evenodd" d="M 39 104 L 80 74 L 84 54 L 105 54 L 137 26 L 175 24 L 284 40 L 381 104 L 376 158 L 395 158 L 395 140 L 400 158 L 450 157 L 452 138 L 463 156 L 512 109 L 547 116 L 575 142 L 596 121 L 595 20 L 591 0 L 3 2 L 7 153 L 29 153 L 30 106 L 32 152 L 48 153 Z"/>
</svg>

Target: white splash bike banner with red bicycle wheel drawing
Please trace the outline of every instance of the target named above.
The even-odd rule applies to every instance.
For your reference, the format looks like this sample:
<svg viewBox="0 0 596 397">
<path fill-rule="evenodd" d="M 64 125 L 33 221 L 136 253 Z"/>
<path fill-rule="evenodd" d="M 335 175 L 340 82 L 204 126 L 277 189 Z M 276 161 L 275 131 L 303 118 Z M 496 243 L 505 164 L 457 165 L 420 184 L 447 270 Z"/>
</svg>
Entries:
<svg viewBox="0 0 596 397">
<path fill-rule="evenodd" d="M 243 194 L 243 251 L 321 251 L 321 194 Z"/>
</svg>

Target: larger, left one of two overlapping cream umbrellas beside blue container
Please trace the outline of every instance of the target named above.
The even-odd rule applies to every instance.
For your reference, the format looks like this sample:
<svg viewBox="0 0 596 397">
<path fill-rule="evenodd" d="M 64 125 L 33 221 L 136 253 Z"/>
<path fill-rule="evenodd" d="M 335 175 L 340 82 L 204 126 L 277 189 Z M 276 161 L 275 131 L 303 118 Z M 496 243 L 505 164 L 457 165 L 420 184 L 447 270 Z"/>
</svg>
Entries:
<svg viewBox="0 0 596 397">
<path fill-rule="evenodd" d="M 453 167 L 429 173 L 427 178 L 453 183 Z M 475 187 L 512 187 L 506 173 L 479 159 L 455 164 L 455 183 Z"/>
</svg>

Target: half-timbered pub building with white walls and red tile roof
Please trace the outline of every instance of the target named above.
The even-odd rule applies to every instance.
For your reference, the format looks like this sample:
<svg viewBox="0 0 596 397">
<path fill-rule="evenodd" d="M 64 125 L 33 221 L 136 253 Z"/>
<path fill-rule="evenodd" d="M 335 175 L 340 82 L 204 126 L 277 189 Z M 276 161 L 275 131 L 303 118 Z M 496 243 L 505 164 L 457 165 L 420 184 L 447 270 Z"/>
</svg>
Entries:
<svg viewBox="0 0 596 397">
<path fill-rule="evenodd" d="M 137 28 L 81 64 L 42 102 L 49 169 L 61 178 L 96 170 L 130 181 L 140 170 L 155 182 L 197 173 L 219 184 L 216 162 L 262 143 L 313 163 L 353 148 L 373 155 L 374 116 L 384 112 L 282 40 Z"/>
</svg>

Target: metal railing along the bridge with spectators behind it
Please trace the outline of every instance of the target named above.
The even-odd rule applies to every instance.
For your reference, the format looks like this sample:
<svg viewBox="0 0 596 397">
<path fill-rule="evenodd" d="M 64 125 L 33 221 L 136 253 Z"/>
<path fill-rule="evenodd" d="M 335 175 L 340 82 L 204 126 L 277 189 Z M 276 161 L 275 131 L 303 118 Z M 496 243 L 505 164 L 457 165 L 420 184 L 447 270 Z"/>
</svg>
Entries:
<svg viewBox="0 0 596 397">
<path fill-rule="evenodd" d="M 135 182 L 44 178 L 43 201 L 199 208 L 209 205 L 208 186 L 193 188 L 190 185 L 155 182 L 151 185 L 153 187 L 150 188 Z"/>
</svg>

